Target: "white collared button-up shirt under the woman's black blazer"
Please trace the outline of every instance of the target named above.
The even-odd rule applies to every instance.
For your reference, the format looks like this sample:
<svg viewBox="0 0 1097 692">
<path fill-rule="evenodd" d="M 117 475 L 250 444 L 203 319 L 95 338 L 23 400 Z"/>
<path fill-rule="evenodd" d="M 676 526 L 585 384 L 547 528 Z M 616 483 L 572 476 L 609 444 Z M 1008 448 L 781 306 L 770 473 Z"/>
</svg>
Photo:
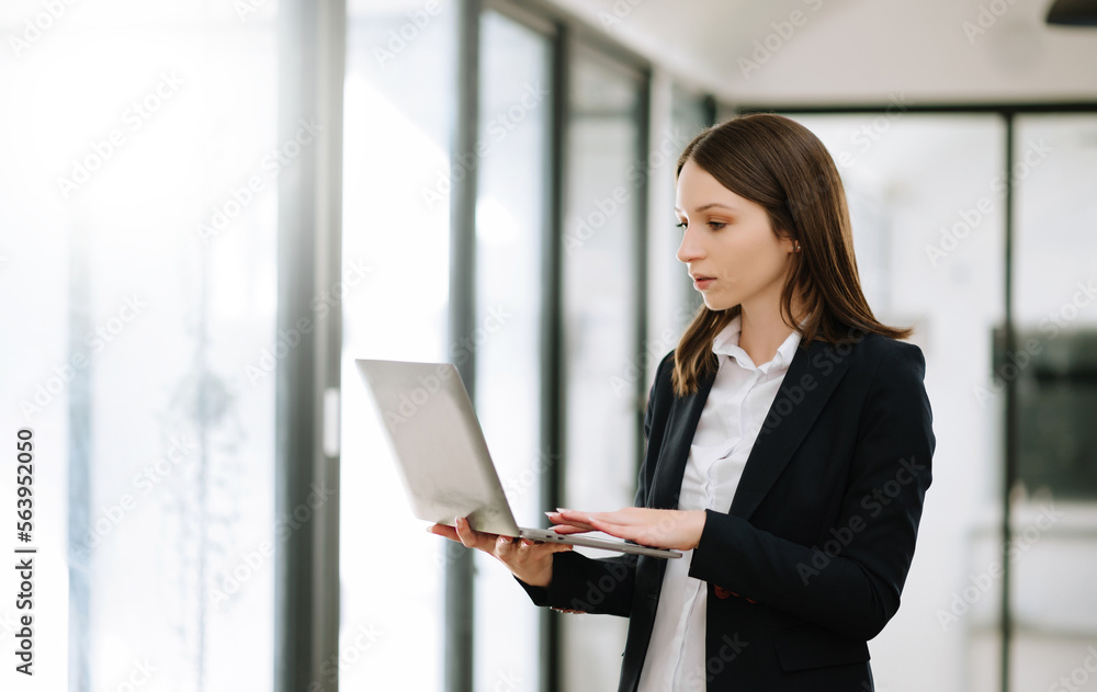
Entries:
<svg viewBox="0 0 1097 692">
<path fill-rule="evenodd" d="M 726 512 L 747 456 L 800 344 L 793 330 L 773 359 L 755 365 L 739 348 L 742 317 L 712 340 L 720 367 L 693 433 L 678 509 Z M 667 560 L 640 692 L 704 692 L 706 585 L 689 576 L 693 551 Z"/>
</svg>

